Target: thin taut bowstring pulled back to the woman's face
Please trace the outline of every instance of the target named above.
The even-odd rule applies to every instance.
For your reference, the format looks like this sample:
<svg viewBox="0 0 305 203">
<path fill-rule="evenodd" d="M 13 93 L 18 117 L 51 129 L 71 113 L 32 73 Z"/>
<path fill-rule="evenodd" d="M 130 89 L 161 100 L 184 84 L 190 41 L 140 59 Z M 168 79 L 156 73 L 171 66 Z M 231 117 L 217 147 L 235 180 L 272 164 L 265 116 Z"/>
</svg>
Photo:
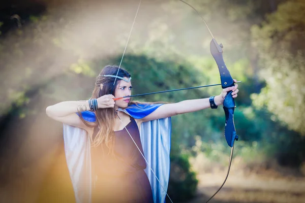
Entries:
<svg viewBox="0 0 305 203">
<path fill-rule="evenodd" d="M 121 63 L 123 61 L 123 58 L 124 58 L 124 55 L 125 55 L 125 52 L 126 52 L 126 49 L 127 49 L 127 45 L 128 45 L 128 42 L 129 42 L 129 39 L 130 39 L 130 36 L 131 36 L 131 32 L 133 30 L 133 27 L 134 27 L 134 24 L 135 24 L 135 21 L 136 21 L 136 18 L 137 18 L 137 15 L 138 15 L 138 12 L 139 12 L 139 9 L 140 9 L 140 5 L 141 5 L 141 2 L 142 0 L 140 0 L 139 2 L 139 5 L 138 5 L 138 8 L 137 8 L 137 12 L 136 12 L 136 15 L 135 15 L 135 18 L 133 20 L 133 23 L 132 23 L 132 26 L 131 26 L 131 29 L 130 29 L 130 32 L 129 32 L 129 36 L 128 36 L 128 39 L 127 39 L 127 42 L 126 42 L 126 45 L 125 45 L 125 49 L 124 49 L 124 52 L 123 52 L 123 55 L 121 57 L 121 60 L 120 60 L 120 63 L 119 63 L 119 66 L 118 66 L 118 69 L 117 69 L 117 72 L 116 72 L 116 76 L 115 76 L 115 79 L 114 79 L 114 82 L 113 82 L 113 87 L 112 87 L 112 93 L 113 93 L 113 90 L 114 90 L 114 85 L 115 85 L 115 82 L 116 82 L 116 77 L 118 75 L 118 72 L 119 72 L 119 69 L 120 69 L 120 66 L 121 66 Z M 111 94 L 112 94 L 111 93 Z M 118 117 L 119 121 L 124 125 L 123 121 L 120 119 L 120 117 L 118 116 L 118 113 L 117 111 L 113 108 L 116 116 Z M 144 158 L 145 162 L 148 164 L 148 167 L 150 168 L 151 172 L 153 172 L 155 178 L 158 180 L 159 184 L 161 185 L 161 187 L 163 188 L 163 190 L 166 192 L 166 195 L 167 197 L 169 198 L 169 200 L 173 203 L 173 201 L 171 200 L 171 198 L 169 197 L 169 195 L 167 194 L 167 190 L 163 187 L 163 185 L 161 184 L 160 180 L 158 179 L 156 173 L 154 172 L 153 168 L 151 168 L 151 166 L 149 165 L 148 161 L 146 160 L 144 154 L 141 152 L 140 148 L 138 147 L 138 145 L 136 144 L 136 142 L 134 141 L 134 139 L 132 138 L 131 134 L 129 133 L 128 129 L 126 128 L 126 126 L 124 127 L 126 129 L 126 131 L 128 132 L 130 138 L 132 139 L 132 141 L 134 142 L 134 144 L 136 145 L 136 147 L 138 148 L 139 152 L 141 153 L 142 157 Z"/>
</svg>

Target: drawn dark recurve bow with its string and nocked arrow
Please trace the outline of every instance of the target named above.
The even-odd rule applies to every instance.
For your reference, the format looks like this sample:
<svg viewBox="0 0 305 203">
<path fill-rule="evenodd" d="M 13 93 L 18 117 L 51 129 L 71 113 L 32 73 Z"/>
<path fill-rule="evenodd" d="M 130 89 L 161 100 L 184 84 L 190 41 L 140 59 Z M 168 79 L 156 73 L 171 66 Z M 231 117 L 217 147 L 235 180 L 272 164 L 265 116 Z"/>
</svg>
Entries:
<svg viewBox="0 0 305 203">
<path fill-rule="evenodd" d="M 141 1 L 142 0 L 140 0 L 139 5 L 138 5 L 138 9 L 137 9 L 137 12 L 136 12 L 136 15 L 135 15 L 135 18 L 134 18 L 134 21 L 133 21 L 130 33 L 129 33 L 129 37 L 128 37 L 128 40 L 127 40 L 127 43 L 126 43 L 126 46 L 125 46 L 125 49 L 124 49 L 124 52 L 123 52 L 123 56 L 121 57 L 121 60 L 120 60 L 119 66 L 118 66 L 119 68 L 117 70 L 116 77 L 118 75 L 121 62 L 123 61 L 124 54 L 125 54 L 126 49 L 127 49 L 127 45 L 128 45 L 128 42 L 129 42 L 129 39 L 130 39 L 130 36 L 131 36 L 131 32 L 132 32 L 132 29 L 133 29 L 133 26 L 134 26 L 134 23 L 135 23 L 135 20 L 136 20 L 136 17 L 137 17 L 139 8 L 140 8 Z M 222 88 L 224 89 L 224 88 L 227 88 L 227 87 L 234 86 L 234 81 L 233 81 L 233 79 L 231 77 L 231 74 L 230 74 L 229 70 L 227 69 L 227 66 L 226 66 L 226 64 L 224 62 L 224 59 L 223 59 L 223 54 L 222 54 L 223 53 L 223 50 L 222 50 L 223 45 L 217 43 L 217 41 L 214 38 L 214 36 L 212 35 L 212 32 L 210 31 L 208 25 L 206 24 L 204 18 L 199 14 L 199 12 L 194 7 L 192 7 L 190 4 L 188 4 L 188 3 L 186 3 L 186 2 L 184 2 L 182 0 L 179 0 L 179 1 L 187 4 L 188 6 L 190 6 L 191 8 L 193 8 L 197 12 L 197 14 L 202 18 L 203 22 L 205 23 L 205 25 L 206 25 L 206 27 L 207 27 L 207 29 L 208 29 L 211 37 L 212 37 L 212 40 L 210 42 L 210 52 L 211 52 L 212 56 L 214 57 L 217 65 L 218 65 L 218 70 L 219 70 L 219 73 L 220 73 L 220 79 L 221 79 L 221 86 L 222 86 Z M 115 77 L 113 86 L 115 84 L 116 77 Z M 219 84 L 216 84 L 216 85 L 219 85 Z M 208 86 L 214 86 L 214 85 L 208 85 Z M 203 87 L 203 86 L 201 86 L 201 87 Z M 195 87 L 195 88 L 199 88 L 199 87 Z M 187 88 L 184 88 L 184 89 L 187 89 Z M 191 88 L 189 88 L 189 89 L 191 89 Z M 181 90 L 181 89 L 179 89 L 179 90 Z M 169 91 L 176 91 L 176 90 L 169 90 Z M 154 93 L 163 93 L 163 92 L 167 92 L 167 91 L 154 92 Z M 234 118 L 233 118 L 233 116 L 234 116 L 234 109 L 235 109 L 236 106 L 235 106 L 235 100 L 232 97 L 231 93 L 232 93 L 232 91 L 227 92 L 227 95 L 225 96 L 224 102 L 223 102 L 223 109 L 224 109 L 225 117 L 226 117 L 224 136 L 225 136 L 225 139 L 227 141 L 227 144 L 231 147 L 231 153 L 230 153 L 230 159 L 229 159 L 229 165 L 228 165 L 228 172 L 227 172 L 227 176 L 226 176 L 223 184 L 220 186 L 220 188 L 217 190 L 217 192 L 214 195 L 212 195 L 206 202 L 208 202 L 212 197 L 214 197 L 220 191 L 220 189 L 223 187 L 223 185 L 225 184 L 225 182 L 226 182 L 226 180 L 228 178 L 229 172 L 230 172 L 230 166 L 231 166 L 233 149 L 234 149 L 234 142 L 235 142 L 235 140 L 236 141 L 238 140 L 238 136 L 236 134 L 235 125 L 234 125 Z M 151 94 L 151 93 L 147 93 L 147 94 Z M 144 95 L 144 94 L 140 94 L 140 95 Z M 139 95 L 134 95 L 134 96 L 139 96 Z M 115 100 L 117 100 L 117 99 L 119 99 L 119 98 L 115 98 Z M 114 111 L 115 111 L 115 109 L 114 109 Z M 118 116 L 116 111 L 115 111 L 115 113 Z M 119 118 L 119 116 L 118 116 L 118 118 Z M 123 121 L 121 121 L 120 118 L 119 118 L 119 120 L 120 120 L 121 123 L 123 123 Z M 125 129 L 128 132 L 128 134 L 131 137 L 131 139 L 133 140 L 131 134 L 129 133 L 129 131 L 127 130 L 126 127 L 125 127 Z M 139 147 L 137 146 L 137 144 L 135 143 L 134 140 L 133 140 L 133 142 L 136 145 L 136 147 L 138 148 L 138 150 L 140 151 L 140 153 L 143 156 L 143 158 L 145 159 L 146 163 L 148 164 L 146 158 L 144 157 L 144 155 L 142 154 L 141 150 L 139 149 Z M 153 174 L 155 175 L 156 179 L 160 183 L 159 179 L 157 178 L 155 172 L 151 169 L 151 167 L 150 167 L 150 170 L 151 170 L 151 172 L 153 172 Z M 164 186 L 161 183 L 160 183 L 160 185 L 165 190 Z M 170 199 L 170 197 L 169 197 L 169 195 L 167 193 L 166 193 L 166 195 Z M 170 201 L 172 202 L 171 199 L 170 199 Z"/>
</svg>

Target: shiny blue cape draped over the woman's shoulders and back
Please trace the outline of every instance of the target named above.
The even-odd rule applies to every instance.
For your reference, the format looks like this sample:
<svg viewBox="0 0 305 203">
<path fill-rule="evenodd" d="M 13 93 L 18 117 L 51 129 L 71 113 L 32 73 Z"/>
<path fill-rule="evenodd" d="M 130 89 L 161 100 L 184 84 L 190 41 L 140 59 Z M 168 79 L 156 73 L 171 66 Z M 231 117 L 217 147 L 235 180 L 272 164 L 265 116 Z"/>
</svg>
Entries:
<svg viewBox="0 0 305 203">
<path fill-rule="evenodd" d="M 135 119 L 141 119 L 154 112 L 161 105 L 131 105 L 127 109 L 118 109 Z M 93 112 L 81 112 L 84 120 L 95 122 Z M 145 159 L 148 164 L 145 173 L 153 191 L 154 202 L 165 202 L 170 170 L 171 118 L 143 122 L 140 138 Z M 68 169 L 77 203 L 91 202 L 92 170 L 90 157 L 90 138 L 87 131 L 64 124 L 64 142 Z M 160 183 L 156 179 L 155 172 Z M 102 191 L 101 191 L 102 192 Z"/>
</svg>

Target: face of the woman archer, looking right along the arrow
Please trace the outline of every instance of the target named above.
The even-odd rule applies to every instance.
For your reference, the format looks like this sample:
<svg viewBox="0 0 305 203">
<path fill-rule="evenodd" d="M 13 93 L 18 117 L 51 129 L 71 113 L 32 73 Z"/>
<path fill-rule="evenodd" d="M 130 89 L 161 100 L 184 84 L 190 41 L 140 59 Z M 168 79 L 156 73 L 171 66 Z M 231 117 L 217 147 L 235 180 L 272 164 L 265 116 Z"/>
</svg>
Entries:
<svg viewBox="0 0 305 203">
<path fill-rule="evenodd" d="M 126 77 L 124 78 L 128 80 L 128 78 Z M 132 89 L 131 82 L 125 82 L 124 80 L 120 80 L 117 83 L 114 97 L 131 96 L 131 89 Z M 126 108 L 129 104 L 129 101 L 130 101 L 130 97 L 118 99 L 115 101 L 115 106 L 120 108 Z"/>
</svg>

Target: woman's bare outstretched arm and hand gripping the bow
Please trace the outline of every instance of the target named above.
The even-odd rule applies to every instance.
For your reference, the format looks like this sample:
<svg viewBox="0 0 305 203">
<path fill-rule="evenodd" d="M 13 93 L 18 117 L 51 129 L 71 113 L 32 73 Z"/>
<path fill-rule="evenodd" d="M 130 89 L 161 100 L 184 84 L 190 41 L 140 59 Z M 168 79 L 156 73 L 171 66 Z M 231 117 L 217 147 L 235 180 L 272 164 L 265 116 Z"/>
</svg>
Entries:
<svg viewBox="0 0 305 203">
<path fill-rule="evenodd" d="M 236 80 L 234 80 L 236 82 Z M 214 101 L 217 106 L 223 104 L 224 98 L 227 95 L 227 92 L 232 92 L 232 97 L 237 97 L 237 89 L 238 85 L 235 84 L 233 87 L 228 87 L 223 89 L 222 93 L 218 96 L 215 96 Z M 203 109 L 210 108 L 209 98 L 200 98 L 200 99 L 190 99 L 180 101 L 178 103 L 173 104 L 165 104 L 159 107 L 156 111 L 149 114 L 148 116 L 141 119 L 142 122 L 156 120 L 160 118 L 167 118 L 171 116 L 175 116 L 178 114 L 185 114 L 189 112 L 195 112 Z"/>
</svg>

